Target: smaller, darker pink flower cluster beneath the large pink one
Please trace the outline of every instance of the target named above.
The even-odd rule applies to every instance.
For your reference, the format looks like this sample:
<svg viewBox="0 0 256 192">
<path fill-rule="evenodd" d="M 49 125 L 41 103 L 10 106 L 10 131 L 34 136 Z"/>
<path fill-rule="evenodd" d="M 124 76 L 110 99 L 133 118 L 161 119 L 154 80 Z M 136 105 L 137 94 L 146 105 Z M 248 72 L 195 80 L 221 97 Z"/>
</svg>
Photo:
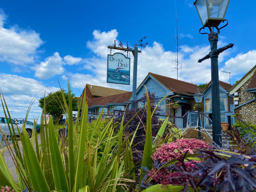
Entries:
<svg viewBox="0 0 256 192">
<path fill-rule="evenodd" d="M 179 172 L 168 172 L 166 169 L 160 169 L 158 172 L 153 168 L 148 172 L 148 176 L 154 179 L 157 183 L 161 183 L 165 187 L 166 185 L 179 184 L 178 179 L 172 179 L 172 177 L 181 176 Z M 170 180 L 172 179 L 172 181 Z"/>
</svg>

